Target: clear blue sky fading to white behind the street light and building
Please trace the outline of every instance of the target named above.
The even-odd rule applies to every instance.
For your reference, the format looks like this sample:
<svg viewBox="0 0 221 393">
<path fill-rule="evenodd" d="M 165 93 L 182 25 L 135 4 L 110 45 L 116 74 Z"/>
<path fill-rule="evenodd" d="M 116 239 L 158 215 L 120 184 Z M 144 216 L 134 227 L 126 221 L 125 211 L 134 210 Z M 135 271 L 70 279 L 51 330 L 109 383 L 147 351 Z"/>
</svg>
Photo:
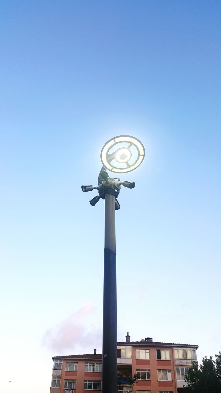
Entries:
<svg viewBox="0 0 221 393">
<path fill-rule="evenodd" d="M 81 185 L 121 134 L 146 155 L 121 177 L 136 187 L 116 212 L 118 340 L 214 355 L 220 2 L 8 0 L 0 14 L 2 391 L 48 392 L 53 355 L 101 351 L 104 204 Z"/>
</svg>

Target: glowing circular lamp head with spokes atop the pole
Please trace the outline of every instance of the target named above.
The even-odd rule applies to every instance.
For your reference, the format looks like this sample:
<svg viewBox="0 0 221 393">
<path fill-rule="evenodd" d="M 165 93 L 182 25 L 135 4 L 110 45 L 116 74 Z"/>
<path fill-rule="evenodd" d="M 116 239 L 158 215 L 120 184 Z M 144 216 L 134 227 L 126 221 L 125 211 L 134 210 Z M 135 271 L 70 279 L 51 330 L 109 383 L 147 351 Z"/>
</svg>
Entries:
<svg viewBox="0 0 221 393">
<path fill-rule="evenodd" d="M 143 161 L 144 145 L 133 136 L 120 135 L 110 139 L 101 150 L 101 162 L 112 172 L 133 171 Z"/>
</svg>

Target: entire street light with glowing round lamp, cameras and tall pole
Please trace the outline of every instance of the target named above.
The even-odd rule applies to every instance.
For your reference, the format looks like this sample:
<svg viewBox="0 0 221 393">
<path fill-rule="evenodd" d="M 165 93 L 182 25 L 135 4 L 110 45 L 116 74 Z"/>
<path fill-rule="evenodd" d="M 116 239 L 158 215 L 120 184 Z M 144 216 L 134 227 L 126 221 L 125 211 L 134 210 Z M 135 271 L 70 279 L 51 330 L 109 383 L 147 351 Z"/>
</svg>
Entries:
<svg viewBox="0 0 221 393">
<path fill-rule="evenodd" d="M 116 146 L 116 151 L 113 148 Z M 135 151 L 134 151 L 135 148 Z M 120 209 L 117 200 L 121 186 L 134 188 L 134 182 L 120 182 L 109 178 L 106 172 L 129 172 L 144 159 L 144 146 L 131 136 L 118 136 L 108 141 L 101 151 L 101 168 L 98 187 L 82 185 L 83 192 L 97 189 L 99 196 L 90 200 L 95 206 L 99 199 L 105 200 L 105 246 L 103 280 L 103 356 L 102 393 L 117 393 L 117 296 L 116 296 L 116 237 L 115 210 Z M 134 157 L 134 158 L 133 158 Z"/>
</svg>

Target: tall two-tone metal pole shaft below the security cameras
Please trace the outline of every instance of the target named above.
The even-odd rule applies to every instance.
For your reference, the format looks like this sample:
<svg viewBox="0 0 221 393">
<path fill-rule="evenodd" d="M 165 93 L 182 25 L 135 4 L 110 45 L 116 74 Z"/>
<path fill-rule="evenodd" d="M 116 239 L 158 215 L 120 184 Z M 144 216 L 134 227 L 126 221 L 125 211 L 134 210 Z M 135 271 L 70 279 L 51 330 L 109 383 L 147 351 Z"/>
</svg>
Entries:
<svg viewBox="0 0 221 393">
<path fill-rule="evenodd" d="M 117 392 L 115 196 L 105 192 L 102 393 Z"/>
</svg>

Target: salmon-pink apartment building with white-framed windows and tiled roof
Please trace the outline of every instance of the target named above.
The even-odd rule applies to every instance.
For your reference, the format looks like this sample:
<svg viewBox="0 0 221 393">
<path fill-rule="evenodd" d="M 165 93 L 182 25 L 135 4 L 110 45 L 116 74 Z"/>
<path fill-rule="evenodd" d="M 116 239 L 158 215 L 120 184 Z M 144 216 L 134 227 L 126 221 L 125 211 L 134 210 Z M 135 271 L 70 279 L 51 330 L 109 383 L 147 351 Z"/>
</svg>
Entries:
<svg viewBox="0 0 221 393">
<path fill-rule="evenodd" d="M 184 373 L 191 361 L 197 360 L 198 345 L 153 342 L 147 337 L 131 341 L 127 333 L 125 342 L 118 342 L 118 372 L 132 376 L 138 374 L 133 393 L 181 393 Z M 54 356 L 50 393 L 83 393 L 101 390 L 102 354 Z M 127 385 L 118 392 L 128 393 Z"/>
</svg>

